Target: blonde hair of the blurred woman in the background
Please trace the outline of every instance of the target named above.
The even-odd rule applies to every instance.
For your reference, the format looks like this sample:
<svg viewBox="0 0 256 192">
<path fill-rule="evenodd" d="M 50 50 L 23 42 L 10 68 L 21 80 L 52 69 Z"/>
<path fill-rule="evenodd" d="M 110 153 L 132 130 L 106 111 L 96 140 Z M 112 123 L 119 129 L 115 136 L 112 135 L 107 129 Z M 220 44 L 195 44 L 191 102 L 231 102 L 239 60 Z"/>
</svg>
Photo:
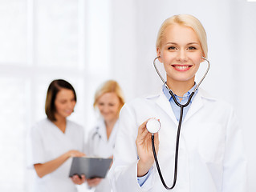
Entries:
<svg viewBox="0 0 256 192">
<path fill-rule="evenodd" d="M 123 91 L 121 90 L 121 87 L 118 84 L 118 82 L 116 82 L 114 80 L 108 80 L 107 82 L 104 82 L 98 88 L 98 90 L 96 90 L 95 96 L 94 96 L 93 106 L 96 107 L 98 99 L 103 94 L 107 94 L 107 93 L 115 93 L 116 94 L 116 96 L 120 100 L 120 109 L 119 110 L 121 110 L 121 108 L 124 106 L 124 94 L 123 94 Z"/>
</svg>

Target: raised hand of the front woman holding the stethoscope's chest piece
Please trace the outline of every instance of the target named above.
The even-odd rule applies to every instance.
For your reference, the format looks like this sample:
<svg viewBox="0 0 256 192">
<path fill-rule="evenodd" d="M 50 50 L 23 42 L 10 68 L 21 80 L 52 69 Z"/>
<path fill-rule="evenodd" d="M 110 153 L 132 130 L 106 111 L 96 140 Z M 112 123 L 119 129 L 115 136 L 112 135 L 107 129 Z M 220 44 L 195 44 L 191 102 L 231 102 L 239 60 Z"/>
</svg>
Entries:
<svg viewBox="0 0 256 192">
<path fill-rule="evenodd" d="M 148 119 L 149 120 L 149 119 Z M 148 173 L 148 170 L 154 163 L 154 155 L 152 152 L 152 134 L 148 132 L 146 128 L 147 121 L 143 122 L 138 130 L 138 136 L 136 138 L 136 147 L 139 155 L 139 162 L 137 164 L 137 176 L 142 177 Z M 159 149 L 158 133 L 155 136 L 156 154 Z"/>
</svg>

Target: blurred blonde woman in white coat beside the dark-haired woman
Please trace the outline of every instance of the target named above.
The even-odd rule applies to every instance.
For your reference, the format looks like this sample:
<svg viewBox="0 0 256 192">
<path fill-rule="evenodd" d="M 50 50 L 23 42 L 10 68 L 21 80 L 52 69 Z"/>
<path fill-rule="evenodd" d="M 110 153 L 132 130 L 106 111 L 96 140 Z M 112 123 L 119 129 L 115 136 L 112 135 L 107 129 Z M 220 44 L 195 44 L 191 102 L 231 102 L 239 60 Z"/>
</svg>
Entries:
<svg viewBox="0 0 256 192">
<path fill-rule="evenodd" d="M 100 112 L 100 118 L 88 134 L 87 155 L 100 158 L 113 158 L 117 122 L 124 94 L 116 81 L 104 82 L 95 92 L 93 106 Z M 87 179 L 87 185 L 95 187 L 97 192 L 110 192 L 108 178 Z"/>
</svg>

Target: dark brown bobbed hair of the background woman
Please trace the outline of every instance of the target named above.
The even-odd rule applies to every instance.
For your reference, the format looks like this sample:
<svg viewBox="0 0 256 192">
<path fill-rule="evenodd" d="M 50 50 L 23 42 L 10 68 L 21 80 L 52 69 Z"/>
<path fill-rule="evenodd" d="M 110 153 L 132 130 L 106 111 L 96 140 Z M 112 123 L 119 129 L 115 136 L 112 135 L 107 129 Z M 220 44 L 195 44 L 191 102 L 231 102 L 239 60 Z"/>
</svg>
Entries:
<svg viewBox="0 0 256 192">
<path fill-rule="evenodd" d="M 76 102 L 76 94 L 75 94 L 75 89 L 71 84 L 63 79 L 56 79 L 51 82 L 51 84 L 48 87 L 47 90 L 47 99 L 45 102 L 45 113 L 47 114 L 47 118 L 51 120 L 51 122 L 56 121 L 55 118 L 55 99 L 56 95 L 59 93 L 59 90 L 61 89 L 67 89 L 67 90 L 72 90 L 75 96 L 75 102 Z"/>
</svg>

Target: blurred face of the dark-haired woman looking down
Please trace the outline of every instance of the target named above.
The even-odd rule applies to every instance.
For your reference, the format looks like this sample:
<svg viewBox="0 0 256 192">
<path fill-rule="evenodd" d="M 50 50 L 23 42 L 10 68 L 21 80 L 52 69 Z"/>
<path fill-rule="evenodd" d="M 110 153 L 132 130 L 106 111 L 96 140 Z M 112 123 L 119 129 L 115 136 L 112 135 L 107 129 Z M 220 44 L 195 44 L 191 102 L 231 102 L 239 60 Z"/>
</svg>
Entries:
<svg viewBox="0 0 256 192">
<path fill-rule="evenodd" d="M 75 95 L 72 90 L 60 89 L 55 98 L 55 117 L 67 118 L 74 111 Z"/>
</svg>

